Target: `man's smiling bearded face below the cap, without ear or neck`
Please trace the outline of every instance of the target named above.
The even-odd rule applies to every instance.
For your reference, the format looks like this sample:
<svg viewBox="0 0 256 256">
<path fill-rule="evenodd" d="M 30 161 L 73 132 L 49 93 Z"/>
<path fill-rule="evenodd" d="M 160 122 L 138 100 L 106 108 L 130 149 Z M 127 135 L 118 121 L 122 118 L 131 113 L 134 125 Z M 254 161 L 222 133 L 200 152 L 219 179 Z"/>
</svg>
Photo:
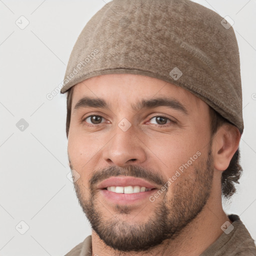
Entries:
<svg viewBox="0 0 256 256">
<path fill-rule="evenodd" d="M 156 78 L 107 74 L 74 86 L 70 168 L 79 203 L 107 245 L 146 250 L 202 210 L 213 180 L 209 122 L 205 102 Z"/>
</svg>

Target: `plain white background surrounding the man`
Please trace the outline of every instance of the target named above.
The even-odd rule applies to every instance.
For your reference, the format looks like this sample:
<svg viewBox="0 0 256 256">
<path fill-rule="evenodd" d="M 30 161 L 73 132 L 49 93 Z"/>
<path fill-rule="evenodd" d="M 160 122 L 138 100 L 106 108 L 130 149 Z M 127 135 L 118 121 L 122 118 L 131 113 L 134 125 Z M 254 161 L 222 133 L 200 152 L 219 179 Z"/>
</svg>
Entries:
<svg viewBox="0 0 256 256">
<path fill-rule="evenodd" d="M 63 80 L 77 36 L 105 2 L 109 0 L 0 0 L 1 256 L 61 256 L 91 233 L 66 177 L 66 95 L 49 100 L 46 94 Z M 234 20 L 243 91 L 244 173 L 224 209 L 238 214 L 255 239 L 256 1 L 196 2 Z M 21 15 L 29 21 L 24 29 L 15 24 Z M 21 118 L 29 125 L 23 131 L 16 127 Z M 24 230 L 21 220 L 29 226 L 24 234 L 15 229 L 19 224 Z"/>
</svg>

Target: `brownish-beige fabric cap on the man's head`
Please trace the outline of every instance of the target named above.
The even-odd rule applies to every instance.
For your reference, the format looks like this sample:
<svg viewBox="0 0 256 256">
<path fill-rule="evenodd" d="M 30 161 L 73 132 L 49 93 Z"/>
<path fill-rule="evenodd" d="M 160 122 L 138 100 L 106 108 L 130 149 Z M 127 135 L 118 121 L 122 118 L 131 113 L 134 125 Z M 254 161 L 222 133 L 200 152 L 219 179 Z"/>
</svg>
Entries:
<svg viewBox="0 0 256 256">
<path fill-rule="evenodd" d="M 147 75 L 190 91 L 242 133 L 239 51 L 227 20 L 190 0 L 113 0 L 81 31 L 61 93 L 96 75 Z"/>
</svg>

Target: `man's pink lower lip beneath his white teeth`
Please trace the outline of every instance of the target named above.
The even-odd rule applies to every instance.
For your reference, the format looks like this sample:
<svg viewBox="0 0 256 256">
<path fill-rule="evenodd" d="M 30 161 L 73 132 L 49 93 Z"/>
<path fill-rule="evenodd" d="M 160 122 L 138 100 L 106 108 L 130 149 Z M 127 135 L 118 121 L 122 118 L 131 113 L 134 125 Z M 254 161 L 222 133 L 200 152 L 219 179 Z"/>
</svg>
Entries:
<svg viewBox="0 0 256 256">
<path fill-rule="evenodd" d="M 148 199 L 149 196 L 155 192 L 156 189 L 152 189 L 150 191 L 144 191 L 144 192 L 137 192 L 137 193 L 115 193 L 112 191 L 109 191 L 107 189 L 101 189 L 101 194 L 109 201 L 113 203 L 118 204 L 128 204 L 128 203 L 134 203 L 138 202 L 140 200 Z"/>
</svg>

